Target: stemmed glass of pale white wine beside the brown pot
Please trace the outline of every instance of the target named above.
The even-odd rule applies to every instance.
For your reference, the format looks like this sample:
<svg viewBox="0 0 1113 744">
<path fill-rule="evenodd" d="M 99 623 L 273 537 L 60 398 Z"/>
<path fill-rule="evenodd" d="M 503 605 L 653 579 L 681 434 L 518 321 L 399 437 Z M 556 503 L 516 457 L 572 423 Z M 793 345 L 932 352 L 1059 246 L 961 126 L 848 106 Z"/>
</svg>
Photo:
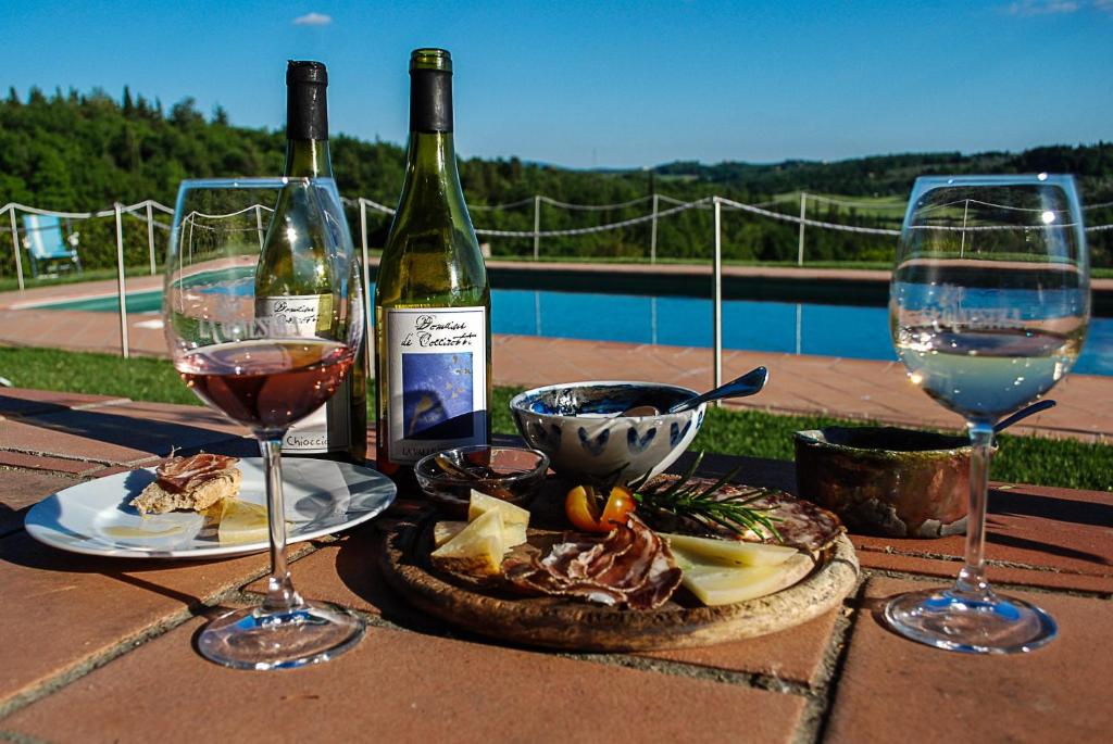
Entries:
<svg viewBox="0 0 1113 744">
<path fill-rule="evenodd" d="M 973 444 L 966 558 L 948 589 L 892 599 L 897 633 L 940 648 L 1017 653 L 1056 633 L 1043 609 L 985 577 L 993 426 L 1061 380 L 1090 318 L 1089 255 L 1070 176 L 919 178 L 900 230 L 889 296 L 909 379 L 962 415 Z"/>
</svg>

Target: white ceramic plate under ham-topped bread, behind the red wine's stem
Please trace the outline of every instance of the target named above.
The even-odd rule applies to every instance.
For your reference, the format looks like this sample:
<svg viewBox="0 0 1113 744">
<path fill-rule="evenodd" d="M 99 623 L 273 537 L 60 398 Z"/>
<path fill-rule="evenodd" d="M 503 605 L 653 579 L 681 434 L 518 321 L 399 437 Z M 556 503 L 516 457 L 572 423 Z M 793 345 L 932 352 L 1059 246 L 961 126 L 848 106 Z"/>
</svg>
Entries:
<svg viewBox="0 0 1113 744">
<path fill-rule="evenodd" d="M 263 460 L 242 458 L 239 498 L 265 504 Z M 313 539 L 366 522 L 397 493 L 386 476 L 329 460 L 284 458 L 287 539 Z M 60 490 L 31 507 L 31 537 L 63 550 L 126 558 L 207 558 L 269 548 L 267 540 L 221 545 L 193 512 L 140 516 L 129 503 L 155 479 L 155 468 L 119 473 Z"/>
</svg>

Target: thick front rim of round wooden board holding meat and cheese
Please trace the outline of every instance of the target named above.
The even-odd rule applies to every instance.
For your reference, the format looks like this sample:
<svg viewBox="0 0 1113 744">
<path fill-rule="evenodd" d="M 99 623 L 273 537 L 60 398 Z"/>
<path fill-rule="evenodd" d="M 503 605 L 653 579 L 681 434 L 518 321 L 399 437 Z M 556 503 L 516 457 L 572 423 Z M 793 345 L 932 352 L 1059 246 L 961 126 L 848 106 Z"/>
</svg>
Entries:
<svg viewBox="0 0 1113 744">
<path fill-rule="evenodd" d="M 457 627 L 498 641 L 568 651 L 690 648 L 784 631 L 843 602 L 858 577 L 858 558 L 846 535 L 816 567 L 776 594 L 707 607 L 678 589 L 653 611 L 615 609 L 562 597 L 522 597 L 498 585 L 434 569 L 434 519 L 401 523 L 384 542 L 387 582 L 410 604 Z"/>
</svg>

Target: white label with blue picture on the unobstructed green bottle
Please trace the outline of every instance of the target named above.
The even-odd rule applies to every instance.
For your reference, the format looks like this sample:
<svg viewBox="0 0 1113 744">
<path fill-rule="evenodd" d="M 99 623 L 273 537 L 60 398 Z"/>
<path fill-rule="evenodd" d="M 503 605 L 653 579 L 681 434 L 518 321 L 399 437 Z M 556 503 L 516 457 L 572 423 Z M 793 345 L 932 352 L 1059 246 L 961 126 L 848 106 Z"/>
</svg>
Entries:
<svg viewBox="0 0 1113 744">
<path fill-rule="evenodd" d="M 385 315 L 391 462 L 412 465 L 442 449 L 486 444 L 486 308 Z"/>
</svg>

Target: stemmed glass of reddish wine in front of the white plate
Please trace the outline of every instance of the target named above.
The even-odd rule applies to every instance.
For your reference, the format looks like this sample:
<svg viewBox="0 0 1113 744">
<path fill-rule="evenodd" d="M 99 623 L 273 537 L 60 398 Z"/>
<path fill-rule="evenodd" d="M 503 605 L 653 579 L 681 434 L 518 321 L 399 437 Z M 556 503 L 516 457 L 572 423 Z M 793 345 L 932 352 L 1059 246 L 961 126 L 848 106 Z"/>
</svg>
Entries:
<svg viewBox="0 0 1113 744">
<path fill-rule="evenodd" d="M 364 633 L 357 615 L 294 588 L 279 458 L 286 429 L 335 393 L 363 337 L 358 266 L 342 219 L 331 179 L 186 180 L 178 190 L 162 308 L 174 366 L 201 400 L 250 429 L 266 473 L 266 597 L 213 619 L 197 641 L 226 666 L 322 662 Z M 274 284 L 275 265 L 316 277 L 322 299 L 313 317 L 256 298 L 260 282 Z"/>
</svg>

